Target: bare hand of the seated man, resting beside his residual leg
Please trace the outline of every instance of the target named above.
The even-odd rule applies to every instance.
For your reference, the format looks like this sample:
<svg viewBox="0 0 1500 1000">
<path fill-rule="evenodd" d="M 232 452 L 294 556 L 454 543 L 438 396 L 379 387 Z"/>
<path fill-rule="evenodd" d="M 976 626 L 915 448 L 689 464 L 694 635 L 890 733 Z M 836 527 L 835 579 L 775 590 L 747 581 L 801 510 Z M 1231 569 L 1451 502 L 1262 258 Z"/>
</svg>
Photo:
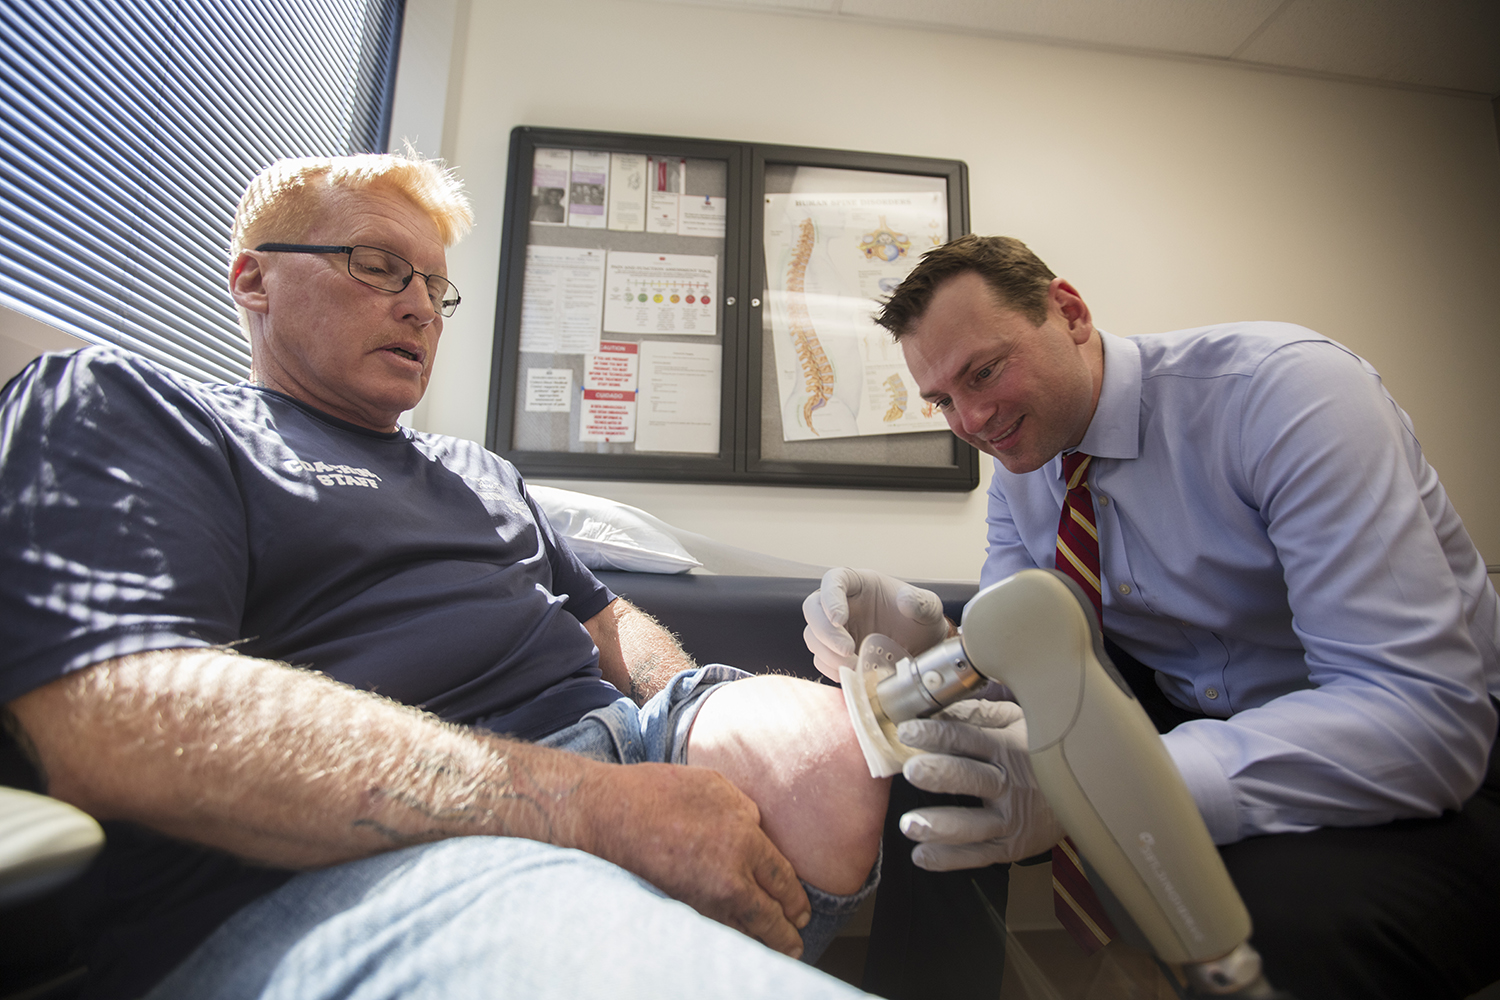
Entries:
<svg viewBox="0 0 1500 1000">
<path fill-rule="evenodd" d="M 812 918 L 760 811 L 717 771 L 602 765 L 578 789 L 579 847 L 792 958 Z"/>
</svg>

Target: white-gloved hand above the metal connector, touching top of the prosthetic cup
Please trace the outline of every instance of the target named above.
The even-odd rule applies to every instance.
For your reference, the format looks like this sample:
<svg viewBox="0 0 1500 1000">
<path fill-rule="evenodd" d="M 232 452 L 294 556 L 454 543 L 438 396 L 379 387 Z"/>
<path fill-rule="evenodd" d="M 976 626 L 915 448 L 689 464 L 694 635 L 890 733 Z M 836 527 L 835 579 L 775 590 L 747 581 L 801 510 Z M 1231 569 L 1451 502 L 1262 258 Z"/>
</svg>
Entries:
<svg viewBox="0 0 1500 1000">
<path fill-rule="evenodd" d="M 834 681 L 838 667 L 852 670 L 860 661 L 860 643 L 870 633 L 890 636 L 912 655 L 948 637 L 948 619 L 936 594 L 874 570 L 830 570 L 822 586 L 802 601 L 802 640 L 813 663 Z"/>
</svg>

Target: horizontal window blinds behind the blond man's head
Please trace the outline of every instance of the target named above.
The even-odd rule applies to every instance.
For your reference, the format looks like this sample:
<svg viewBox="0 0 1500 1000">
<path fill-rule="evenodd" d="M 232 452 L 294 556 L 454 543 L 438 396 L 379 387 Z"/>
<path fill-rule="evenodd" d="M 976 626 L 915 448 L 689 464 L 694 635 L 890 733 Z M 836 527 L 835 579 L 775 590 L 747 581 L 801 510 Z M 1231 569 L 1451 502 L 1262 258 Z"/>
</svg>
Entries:
<svg viewBox="0 0 1500 1000">
<path fill-rule="evenodd" d="M 405 0 L 0 3 L 0 304 L 244 378 L 225 288 L 249 178 L 382 151 Z"/>
</svg>

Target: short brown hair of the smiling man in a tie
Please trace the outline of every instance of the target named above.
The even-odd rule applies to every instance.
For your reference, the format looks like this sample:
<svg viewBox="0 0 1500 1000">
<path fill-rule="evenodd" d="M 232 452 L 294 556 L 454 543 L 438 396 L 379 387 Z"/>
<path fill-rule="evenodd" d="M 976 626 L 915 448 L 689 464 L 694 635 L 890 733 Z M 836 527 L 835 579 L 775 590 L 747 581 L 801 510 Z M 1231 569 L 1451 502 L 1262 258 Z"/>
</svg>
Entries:
<svg viewBox="0 0 1500 1000">
<path fill-rule="evenodd" d="M 880 306 L 874 321 L 900 340 L 927 312 L 938 286 L 974 271 L 1000 301 L 1030 319 L 1047 319 L 1047 291 L 1056 274 L 1020 240 L 1008 235 L 962 235 L 922 253 L 922 259 Z"/>
</svg>

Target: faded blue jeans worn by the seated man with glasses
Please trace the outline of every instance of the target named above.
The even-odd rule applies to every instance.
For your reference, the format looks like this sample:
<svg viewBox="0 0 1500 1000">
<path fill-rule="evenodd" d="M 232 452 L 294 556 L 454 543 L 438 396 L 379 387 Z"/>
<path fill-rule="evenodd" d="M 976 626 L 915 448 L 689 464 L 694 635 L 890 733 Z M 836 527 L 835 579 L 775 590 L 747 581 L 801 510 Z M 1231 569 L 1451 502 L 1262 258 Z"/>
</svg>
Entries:
<svg viewBox="0 0 1500 1000">
<path fill-rule="evenodd" d="M 747 676 L 678 675 L 537 741 L 614 763 L 682 763 L 704 699 Z M 802 883 L 814 961 L 874 891 Z M 462 837 L 304 873 L 208 937 L 148 1000 L 198 997 L 858 997 L 867 996 L 700 916 L 632 873 L 537 841 Z"/>
</svg>

